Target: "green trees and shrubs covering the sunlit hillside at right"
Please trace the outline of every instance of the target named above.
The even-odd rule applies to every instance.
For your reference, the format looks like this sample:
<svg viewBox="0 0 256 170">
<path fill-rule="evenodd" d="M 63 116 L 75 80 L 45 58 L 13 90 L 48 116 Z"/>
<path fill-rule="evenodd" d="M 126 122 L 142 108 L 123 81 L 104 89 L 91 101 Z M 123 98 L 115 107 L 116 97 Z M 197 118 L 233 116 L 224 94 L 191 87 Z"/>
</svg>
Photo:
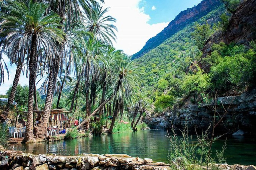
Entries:
<svg viewBox="0 0 256 170">
<path fill-rule="evenodd" d="M 232 1 L 230 6 L 230 2 L 225 1 L 228 6 L 215 7 L 135 59 L 145 80 L 142 89 L 153 101 L 155 112 L 179 106 L 189 96 L 192 103 L 198 103 L 210 100 L 216 91 L 218 96 L 235 95 L 255 85 L 255 42 L 214 44 L 212 53 L 202 58 L 202 49 L 209 38 L 228 26 L 231 14 L 227 7 L 233 9 L 239 4 Z"/>
</svg>

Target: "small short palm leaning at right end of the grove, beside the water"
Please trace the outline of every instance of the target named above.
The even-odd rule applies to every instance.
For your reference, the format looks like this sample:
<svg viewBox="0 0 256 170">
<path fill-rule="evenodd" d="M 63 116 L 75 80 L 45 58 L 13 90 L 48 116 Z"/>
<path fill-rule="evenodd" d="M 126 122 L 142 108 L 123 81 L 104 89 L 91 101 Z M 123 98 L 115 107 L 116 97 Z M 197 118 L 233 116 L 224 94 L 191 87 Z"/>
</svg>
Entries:
<svg viewBox="0 0 256 170">
<path fill-rule="evenodd" d="M 150 117 L 149 111 L 150 111 L 150 102 L 149 102 L 149 98 L 147 98 L 147 94 L 145 92 L 139 92 L 136 94 L 135 96 L 135 105 L 134 105 L 134 112 L 135 113 L 140 113 L 139 118 L 137 119 L 135 125 L 133 126 L 133 123 L 136 119 L 137 114 L 134 114 L 133 117 L 133 121 L 132 121 L 132 129 L 133 130 L 137 130 L 136 126 L 139 123 L 139 120 L 141 118 L 141 116 L 143 115 L 143 113 L 146 114 L 146 117 Z"/>
</svg>

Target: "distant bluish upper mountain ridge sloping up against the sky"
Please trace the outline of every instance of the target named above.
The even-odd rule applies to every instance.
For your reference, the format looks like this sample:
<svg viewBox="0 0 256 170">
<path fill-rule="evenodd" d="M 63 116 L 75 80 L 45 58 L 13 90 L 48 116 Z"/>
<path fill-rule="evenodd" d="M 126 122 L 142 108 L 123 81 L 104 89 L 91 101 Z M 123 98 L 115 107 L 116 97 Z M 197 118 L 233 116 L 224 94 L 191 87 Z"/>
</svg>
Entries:
<svg viewBox="0 0 256 170">
<path fill-rule="evenodd" d="M 138 58 L 151 49 L 157 47 L 172 35 L 182 30 L 189 24 L 195 22 L 199 18 L 205 16 L 219 5 L 221 5 L 220 0 L 203 0 L 197 6 L 180 12 L 180 14 L 177 15 L 163 31 L 161 31 L 155 37 L 149 39 L 144 47 L 139 52 L 134 54 L 132 58 Z"/>
</svg>

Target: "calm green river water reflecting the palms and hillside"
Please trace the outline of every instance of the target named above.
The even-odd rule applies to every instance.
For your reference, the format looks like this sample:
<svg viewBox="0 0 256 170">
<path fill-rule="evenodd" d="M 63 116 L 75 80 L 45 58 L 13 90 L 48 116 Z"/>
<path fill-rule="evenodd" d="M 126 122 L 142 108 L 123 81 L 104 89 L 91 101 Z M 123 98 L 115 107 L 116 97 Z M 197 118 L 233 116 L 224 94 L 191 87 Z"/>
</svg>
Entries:
<svg viewBox="0 0 256 170">
<path fill-rule="evenodd" d="M 48 143 L 16 144 L 10 149 L 34 154 L 80 155 L 81 153 L 124 153 L 154 161 L 168 162 L 170 145 L 164 130 L 145 130 L 92 136 L 73 140 Z M 213 147 L 221 148 L 224 140 L 218 140 Z M 225 157 L 228 164 L 256 165 L 256 142 L 251 138 L 230 138 L 227 140 Z"/>
</svg>

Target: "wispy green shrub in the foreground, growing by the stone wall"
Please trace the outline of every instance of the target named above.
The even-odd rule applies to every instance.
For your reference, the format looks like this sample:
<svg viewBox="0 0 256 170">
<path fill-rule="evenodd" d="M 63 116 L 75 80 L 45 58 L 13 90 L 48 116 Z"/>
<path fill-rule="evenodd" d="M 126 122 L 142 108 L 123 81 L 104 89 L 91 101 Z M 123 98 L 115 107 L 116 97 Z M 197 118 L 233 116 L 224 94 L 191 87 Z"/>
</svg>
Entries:
<svg viewBox="0 0 256 170">
<path fill-rule="evenodd" d="M 210 128 L 210 127 L 209 127 Z M 215 155 L 212 153 L 212 143 L 218 139 L 209 138 L 209 128 L 202 132 L 202 135 L 197 134 L 196 141 L 188 134 L 187 123 L 185 123 L 182 132 L 182 137 L 179 138 L 172 128 L 173 135 L 168 134 L 172 152 L 169 152 L 169 160 L 173 170 L 178 169 L 218 169 L 214 166 L 225 162 L 226 158 L 223 157 L 224 150 L 226 149 L 226 142 L 220 151 L 216 150 Z M 199 166 L 198 166 L 199 165 Z"/>
</svg>

